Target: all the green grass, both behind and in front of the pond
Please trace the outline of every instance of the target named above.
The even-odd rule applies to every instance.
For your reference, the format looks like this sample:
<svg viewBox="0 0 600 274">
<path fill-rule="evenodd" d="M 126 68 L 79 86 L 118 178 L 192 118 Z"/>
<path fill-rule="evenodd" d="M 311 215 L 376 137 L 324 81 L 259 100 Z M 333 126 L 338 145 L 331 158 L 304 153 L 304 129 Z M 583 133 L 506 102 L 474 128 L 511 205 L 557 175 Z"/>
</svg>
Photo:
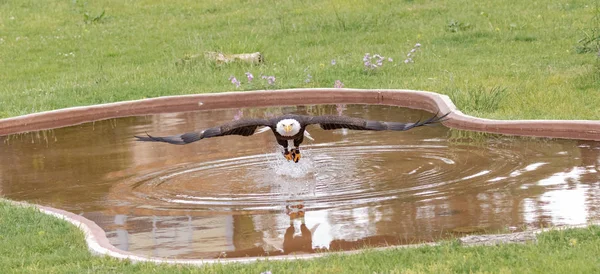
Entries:
<svg viewBox="0 0 600 274">
<path fill-rule="evenodd" d="M 339 80 L 348 88 L 448 94 L 481 117 L 600 119 L 599 5 L 0 0 L 0 118 L 162 95 L 333 87 Z M 206 51 L 260 51 L 265 62 L 190 58 Z M 366 53 L 384 56 L 382 65 L 365 66 Z M 74 227 L 0 203 L 0 273 L 590 273 L 600 266 L 599 247 L 593 227 L 544 234 L 537 245 L 448 243 L 303 262 L 168 267 L 92 257 Z"/>
</svg>

